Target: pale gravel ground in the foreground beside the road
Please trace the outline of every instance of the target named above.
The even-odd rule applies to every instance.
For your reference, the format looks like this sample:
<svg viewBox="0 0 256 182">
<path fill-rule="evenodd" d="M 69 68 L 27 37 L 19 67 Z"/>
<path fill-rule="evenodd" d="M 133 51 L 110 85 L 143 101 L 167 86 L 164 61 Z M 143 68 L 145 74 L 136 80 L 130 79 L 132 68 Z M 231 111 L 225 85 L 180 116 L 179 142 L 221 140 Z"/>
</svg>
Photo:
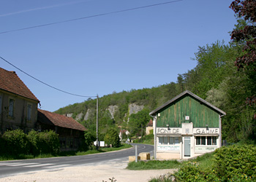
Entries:
<svg viewBox="0 0 256 182">
<path fill-rule="evenodd" d="M 126 170 L 128 161 L 113 160 L 108 163 L 96 163 L 78 167 L 65 167 L 55 170 L 43 170 L 35 173 L 13 175 L 0 178 L 0 181 L 10 182 L 109 182 L 115 178 L 116 182 L 147 182 L 151 178 L 173 170 Z"/>
</svg>

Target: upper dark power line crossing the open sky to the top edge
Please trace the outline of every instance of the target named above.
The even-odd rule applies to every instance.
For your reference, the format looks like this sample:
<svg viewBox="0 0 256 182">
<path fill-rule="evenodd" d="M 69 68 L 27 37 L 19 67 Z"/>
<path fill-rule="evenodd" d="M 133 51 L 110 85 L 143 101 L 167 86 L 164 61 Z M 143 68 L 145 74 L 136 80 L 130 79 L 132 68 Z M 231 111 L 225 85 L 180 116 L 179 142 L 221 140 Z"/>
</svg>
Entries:
<svg viewBox="0 0 256 182">
<path fill-rule="evenodd" d="M 0 32 L 0 34 L 10 33 L 10 32 L 14 32 L 14 31 L 24 31 L 24 30 L 32 29 L 32 28 L 39 28 L 39 27 L 42 27 L 42 26 L 56 25 L 56 24 L 59 24 L 59 23 L 67 23 L 67 22 L 72 22 L 72 21 L 76 21 L 76 20 L 83 20 L 83 19 L 87 19 L 87 18 L 91 18 L 91 17 L 99 17 L 99 16 L 104 16 L 104 15 L 110 15 L 110 14 L 119 13 L 119 12 L 128 12 L 128 11 L 132 11 L 132 10 L 135 10 L 135 9 L 155 7 L 155 6 L 159 6 L 159 5 L 163 5 L 163 4 L 175 3 L 175 2 L 178 2 L 178 1 L 183 1 L 183 0 L 167 1 L 167 2 L 163 2 L 163 3 L 159 3 L 159 4 L 151 4 L 151 5 L 144 6 L 144 7 L 134 7 L 134 8 L 130 8 L 130 9 L 119 10 L 119 11 L 116 11 L 116 12 L 106 12 L 106 13 L 102 13 L 102 14 L 98 14 L 98 15 L 91 15 L 91 16 L 88 16 L 88 17 L 78 17 L 78 18 L 75 18 L 75 19 L 59 21 L 59 22 L 55 22 L 55 23 L 35 25 L 35 26 L 31 26 L 31 27 L 27 27 L 27 28 L 20 28 L 20 29 L 16 29 L 16 30 L 12 30 L 12 31 L 2 31 L 2 32 Z"/>
</svg>

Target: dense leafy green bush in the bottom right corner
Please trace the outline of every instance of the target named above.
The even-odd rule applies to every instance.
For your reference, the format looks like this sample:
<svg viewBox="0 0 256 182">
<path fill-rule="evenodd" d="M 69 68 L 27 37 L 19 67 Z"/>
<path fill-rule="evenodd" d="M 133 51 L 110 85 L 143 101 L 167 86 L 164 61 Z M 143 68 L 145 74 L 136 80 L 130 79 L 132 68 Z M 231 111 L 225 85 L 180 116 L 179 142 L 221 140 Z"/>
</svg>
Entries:
<svg viewBox="0 0 256 182">
<path fill-rule="evenodd" d="M 227 181 L 234 175 L 256 175 L 256 147 L 233 145 L 222 147 L 214 154 L 219 178 Z"/>
</svg>

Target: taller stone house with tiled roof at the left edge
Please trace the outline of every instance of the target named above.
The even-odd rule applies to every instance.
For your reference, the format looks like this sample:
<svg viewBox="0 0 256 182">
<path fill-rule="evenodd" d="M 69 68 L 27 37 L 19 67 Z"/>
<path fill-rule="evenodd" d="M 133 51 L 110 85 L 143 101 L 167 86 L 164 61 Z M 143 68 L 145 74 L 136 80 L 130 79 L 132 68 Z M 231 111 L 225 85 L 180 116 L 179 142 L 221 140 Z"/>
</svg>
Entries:
<svg viewBox="0 0 256 182">
<path fill-rule="evenodd" d="M 0 68 L 0 127 L 6 130 L 34 129 L 39 100 L 15 71 Z"/>
</svg>

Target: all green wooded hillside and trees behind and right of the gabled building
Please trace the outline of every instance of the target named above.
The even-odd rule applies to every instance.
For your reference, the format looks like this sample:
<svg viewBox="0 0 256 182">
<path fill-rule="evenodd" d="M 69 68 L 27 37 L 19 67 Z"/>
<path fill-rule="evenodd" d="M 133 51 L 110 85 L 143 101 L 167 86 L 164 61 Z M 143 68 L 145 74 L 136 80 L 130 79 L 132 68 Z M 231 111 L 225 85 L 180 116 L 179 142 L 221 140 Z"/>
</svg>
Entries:
<svg viewBox="0 0 256 182">
<path fill-rule="evenodd" d="M 240 30 L 247 23 L 238 19 L 235 30 Z M 256 95 L 255 67 L 252 65 L 252 68 L 247 66 L 238 70 L 236 64 L 236 58 L 245 54 L 242 51 L 245 42 L 239 40 L 225 44 L 216 41 L 198 47 L 192 60 L 197 62 L 197 66 L 187 73 L 178 74 L 176 82 L 141 90 L 113 92 L 99 98 L 99 139 L 104 138 L 109 128 L 118 130 L 118 126 L 128 129 L 130 136 L 141 135 L 141 126 L 145 131 L 150 111 L 189 90 L 227 113 L 222 118 L 222 139 L 229 142 L 255 140 L 256 107 L 251 99 Z M 96 102 L 96 99 L 89 98 L 83 103 L 59 108 L 56 113 L 72 113 L 74 119 L 95 131 Z M 138 106 L 137 111 L 131 112 L 131 106 Z"/>
</svg>

